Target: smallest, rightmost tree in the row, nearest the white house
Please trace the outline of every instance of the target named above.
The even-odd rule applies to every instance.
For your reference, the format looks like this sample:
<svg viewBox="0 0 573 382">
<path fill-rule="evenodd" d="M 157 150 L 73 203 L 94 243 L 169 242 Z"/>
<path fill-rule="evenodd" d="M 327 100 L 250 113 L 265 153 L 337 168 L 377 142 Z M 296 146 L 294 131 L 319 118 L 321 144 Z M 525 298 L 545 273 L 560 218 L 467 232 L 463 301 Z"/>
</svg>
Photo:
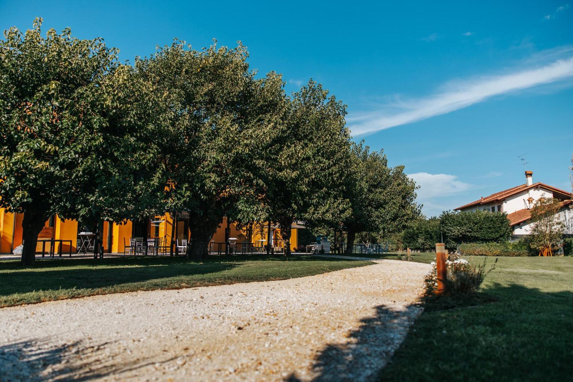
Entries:
<svg viewBox="0 0 573 382">
<path fill-rule="evenodd" d="M 348 231 L 346 252 L 352 253 L 356 233 L 381 236 L 398 232 L 419 216 L 417 186 L 403 166 L 388 167 L 386 155 L 370 151 L 363 143 L 351 147 L 352 171 L 344 187 L 351 214 L 342 220 Z"/>
</svg>

